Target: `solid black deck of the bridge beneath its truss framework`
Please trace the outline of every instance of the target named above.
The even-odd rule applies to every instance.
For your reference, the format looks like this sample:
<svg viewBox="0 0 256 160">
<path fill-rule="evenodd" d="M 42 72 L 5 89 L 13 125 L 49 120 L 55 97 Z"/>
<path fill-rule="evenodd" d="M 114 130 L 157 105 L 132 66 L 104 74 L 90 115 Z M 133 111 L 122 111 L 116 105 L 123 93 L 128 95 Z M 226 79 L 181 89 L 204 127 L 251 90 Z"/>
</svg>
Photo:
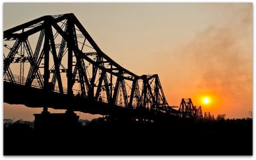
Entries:
<svg viewBox="0 0 256 160">
<path fill-rule="evenodd" d="M 3 82 L 4 97 L 3 102 L 9 104 L 21 104 L 30 108 L 53 108 L 62 110 L 80 111 L 90 114 L 115 115 L 119 117 L 134 116 L 153 119 L 152 116 L 159 116 L 165 113 L 151 113 L 148 110 L 128 109 L 118 105 L 110 106 L 105 102 L 93 102 L 86 98 L 68 96 L 57 92 L 46 91 L 44 89 L 27 87 L 20 84 Z M 151 117 L 151 118 L 150 118 Z"/>
</svg>

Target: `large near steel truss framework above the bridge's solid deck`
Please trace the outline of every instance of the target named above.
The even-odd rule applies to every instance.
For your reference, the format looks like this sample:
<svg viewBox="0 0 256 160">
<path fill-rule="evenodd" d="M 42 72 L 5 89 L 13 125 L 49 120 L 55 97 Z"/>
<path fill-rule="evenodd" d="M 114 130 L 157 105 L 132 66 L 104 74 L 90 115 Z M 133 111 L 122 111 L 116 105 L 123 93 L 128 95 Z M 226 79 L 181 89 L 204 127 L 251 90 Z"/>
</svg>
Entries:
<svg viewBox="0 0 256 160">
<path fill-rule="evenodd" d="M 36 44 L 29 41 L 32 36 L 37 36 Z M 157 74 L 137 76 L 121 67 L 102 52 L 72 13 L 47 15 L 8 29 L 3 41 L 8 50 L 3 63 L 6 81 L 69 96 L 79 92 L 82 98 L 125 108 L 174 111 Z M 22 64 L 18 76 L 11 70 L 15 63 Z"/>
</svg>

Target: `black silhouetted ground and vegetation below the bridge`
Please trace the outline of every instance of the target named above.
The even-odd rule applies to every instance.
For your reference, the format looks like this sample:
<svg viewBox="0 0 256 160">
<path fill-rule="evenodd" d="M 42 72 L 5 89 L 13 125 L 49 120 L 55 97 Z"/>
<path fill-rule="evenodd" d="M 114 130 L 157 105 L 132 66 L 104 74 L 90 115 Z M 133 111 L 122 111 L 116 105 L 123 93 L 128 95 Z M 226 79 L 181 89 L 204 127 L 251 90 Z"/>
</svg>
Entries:
<svg viewBox="0 0 256 160">
<path fill-rule="evenodd" d="M 4 155 L 253 155 L 252 119 L 4 128 Z"/>
</svg>

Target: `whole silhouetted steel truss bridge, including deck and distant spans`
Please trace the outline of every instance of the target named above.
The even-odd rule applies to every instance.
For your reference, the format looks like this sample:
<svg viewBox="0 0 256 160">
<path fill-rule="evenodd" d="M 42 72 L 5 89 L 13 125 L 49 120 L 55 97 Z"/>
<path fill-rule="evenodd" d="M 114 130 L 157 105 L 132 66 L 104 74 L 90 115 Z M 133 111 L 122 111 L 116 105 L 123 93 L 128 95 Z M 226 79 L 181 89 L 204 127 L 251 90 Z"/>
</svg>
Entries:
<svg viewBox="0 0 256 160">
<path fill-rule="evenodd" d="M 121 67 L 72 13 L 7 29 L 3 46 L 6 103 L 102 115 L 203 117 L 191 99 L 183 99 L 179 110 L 169 106 L 157 74 L 138 76 Z"/>
</svg>

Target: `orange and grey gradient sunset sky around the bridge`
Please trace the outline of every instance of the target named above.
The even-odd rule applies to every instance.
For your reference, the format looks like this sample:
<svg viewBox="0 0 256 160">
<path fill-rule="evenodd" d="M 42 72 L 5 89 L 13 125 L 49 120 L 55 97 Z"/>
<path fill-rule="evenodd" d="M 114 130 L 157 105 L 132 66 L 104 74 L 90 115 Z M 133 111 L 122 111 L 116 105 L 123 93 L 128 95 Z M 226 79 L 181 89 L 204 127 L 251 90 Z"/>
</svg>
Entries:
<svg viewBox="0 0 256 160">
<path fill-rule="evenodd" d="M 226 118 L 253 111 L 253 3 L 3 3 L 3 30 L 65 13 L 122 67 L 158 74 L 169 105 L 191 98 L 203 113 Z M 33 120 L 41 111 L 3 104 L 4 119 Z"/>
</svg>

